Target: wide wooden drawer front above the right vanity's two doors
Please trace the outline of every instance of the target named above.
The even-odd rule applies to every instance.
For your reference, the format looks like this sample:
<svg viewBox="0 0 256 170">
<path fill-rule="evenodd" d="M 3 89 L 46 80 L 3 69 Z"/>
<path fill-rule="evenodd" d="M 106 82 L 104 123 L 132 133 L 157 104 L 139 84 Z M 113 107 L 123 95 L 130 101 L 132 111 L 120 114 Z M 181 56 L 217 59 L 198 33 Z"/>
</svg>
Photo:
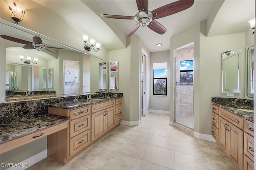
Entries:
<svg viewBox="0 0 256 170">
<path fill-rule="evenodd" d="M 244 118 L 220 108 L 220 116 L 240 129 L 244 129 Z"/>
</svg>

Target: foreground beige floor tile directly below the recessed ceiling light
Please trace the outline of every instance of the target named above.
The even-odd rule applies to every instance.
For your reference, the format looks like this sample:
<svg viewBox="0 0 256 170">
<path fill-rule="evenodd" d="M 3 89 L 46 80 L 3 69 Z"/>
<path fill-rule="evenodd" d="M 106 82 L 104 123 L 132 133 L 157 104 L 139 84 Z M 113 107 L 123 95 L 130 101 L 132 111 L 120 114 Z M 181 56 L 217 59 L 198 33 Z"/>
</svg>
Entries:
<svg viewBox="0 0 256 170">
<path fill-rule="evenodd" d="M 142 160 L 174 169 L 174 151 L 148 145 Z"/>
</svg>

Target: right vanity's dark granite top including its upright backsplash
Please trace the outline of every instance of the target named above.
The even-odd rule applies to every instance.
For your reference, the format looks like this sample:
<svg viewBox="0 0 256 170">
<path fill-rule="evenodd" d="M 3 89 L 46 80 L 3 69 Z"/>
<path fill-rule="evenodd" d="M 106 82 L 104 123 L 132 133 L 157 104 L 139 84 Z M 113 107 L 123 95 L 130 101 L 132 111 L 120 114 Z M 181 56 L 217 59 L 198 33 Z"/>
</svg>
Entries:
<svg viewBox="0 0 256 170">
<path fill-rule="evenodd" d="M 219 106 L 223 109 L 226 109 L 236 115 L 240 115 L 249 121 L 252 121 L 252 122 L 254 121 L 252 100 L 234 99 L 233 101 L 229 101 L 229 100 L 216 100 L 216 99 L 217 98 L 214 98 L 213 100 L 212 98 L 212 104 Z M 240 110 L 240 109 L 243 109 L 243 110 Z"/>
</svg>

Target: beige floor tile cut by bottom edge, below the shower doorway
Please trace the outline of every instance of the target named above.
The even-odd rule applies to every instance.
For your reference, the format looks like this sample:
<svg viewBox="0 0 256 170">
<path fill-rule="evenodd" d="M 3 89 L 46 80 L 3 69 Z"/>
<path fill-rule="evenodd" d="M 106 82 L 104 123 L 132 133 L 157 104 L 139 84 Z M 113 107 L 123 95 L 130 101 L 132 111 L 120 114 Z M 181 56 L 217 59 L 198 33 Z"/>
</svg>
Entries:
<svg viewBox="0 0 256 170">
<path fill-rule="evenodd" d="M 210 170 L 204 158 L 175 151 L 175 170 Z"/>
</svg>

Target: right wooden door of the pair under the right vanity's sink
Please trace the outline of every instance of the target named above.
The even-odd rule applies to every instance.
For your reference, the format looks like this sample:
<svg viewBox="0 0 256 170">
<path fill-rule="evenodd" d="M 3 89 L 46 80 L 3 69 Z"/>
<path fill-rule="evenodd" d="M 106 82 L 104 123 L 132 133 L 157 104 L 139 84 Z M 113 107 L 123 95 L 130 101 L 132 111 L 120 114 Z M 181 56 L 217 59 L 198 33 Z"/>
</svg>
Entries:
<svg viewBox="0 0 256 170">
<path fill-rule="evenodd" d="M 242 170 L 243 163 L 243 139 L 244 131 L 236 127 L 235 125 L 228 123 L 226 126 L 227 131 L 230 133 L 230 153 L 229 157 L 236 164 L 238 169 Z"/>
</svg>

